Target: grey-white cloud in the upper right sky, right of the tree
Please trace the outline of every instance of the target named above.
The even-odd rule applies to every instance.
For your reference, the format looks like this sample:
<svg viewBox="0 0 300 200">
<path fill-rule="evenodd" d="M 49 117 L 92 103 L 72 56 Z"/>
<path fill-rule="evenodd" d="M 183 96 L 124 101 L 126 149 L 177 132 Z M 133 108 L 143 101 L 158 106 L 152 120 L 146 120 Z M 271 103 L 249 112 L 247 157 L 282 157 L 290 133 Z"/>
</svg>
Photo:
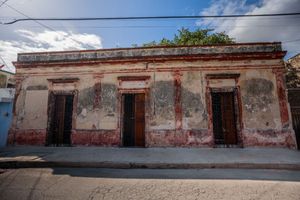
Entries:
<svg viewBox="0 0 300 200">
<path fill-rule="evenodd" d="M 201 15 L 230 14 L 272 14 L 300 11 L 300 0 L 261 0 L 253 4 L 247 0 L 212 0 L 210 7 L 200 12 Z M 204 19 L 197 25 L 204 28 L 214 28 L 217 32 L 225 31 L 237 42 L 283 42 L 289 55 L 300 52 L 300 17 L 253 17 L 230 19 Z"/>
</svg>

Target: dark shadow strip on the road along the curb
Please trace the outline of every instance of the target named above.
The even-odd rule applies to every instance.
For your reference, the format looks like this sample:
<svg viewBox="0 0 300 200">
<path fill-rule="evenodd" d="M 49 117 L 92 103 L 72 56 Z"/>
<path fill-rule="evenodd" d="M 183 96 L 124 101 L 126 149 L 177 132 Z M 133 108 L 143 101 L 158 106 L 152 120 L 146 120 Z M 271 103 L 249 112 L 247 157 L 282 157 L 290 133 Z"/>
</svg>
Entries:
<svg viewBox="0 0 300 200">
<path fill-rule="evenodd" d="M 300 181 L 300 171 L 263 169 L 105 169 L 53 168 L 52 174 L 121 179 L 229 179 Z"/>
</svg>

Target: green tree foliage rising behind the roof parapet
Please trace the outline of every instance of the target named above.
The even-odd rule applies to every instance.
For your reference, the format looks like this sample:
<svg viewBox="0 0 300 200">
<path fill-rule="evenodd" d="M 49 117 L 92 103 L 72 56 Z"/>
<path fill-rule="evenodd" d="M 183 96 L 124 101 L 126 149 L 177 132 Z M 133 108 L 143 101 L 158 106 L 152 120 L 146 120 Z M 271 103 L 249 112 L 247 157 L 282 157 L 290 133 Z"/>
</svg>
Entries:
<svg viewBox="0 0 300 200">
<path fill-rule="evenodd" d="M 176 45 L 214 45 L 214 44 L 232 44 L 235 43 L 225 32 L 214 33 L 212 29 L 197 29 L 194 32 L 187 28 L 178 30 L 174 38 L 169 40 L 161 39 L 159 42 L 152 41 L 143 44 L 148 46 L 176 46 Z"/>
</svg>

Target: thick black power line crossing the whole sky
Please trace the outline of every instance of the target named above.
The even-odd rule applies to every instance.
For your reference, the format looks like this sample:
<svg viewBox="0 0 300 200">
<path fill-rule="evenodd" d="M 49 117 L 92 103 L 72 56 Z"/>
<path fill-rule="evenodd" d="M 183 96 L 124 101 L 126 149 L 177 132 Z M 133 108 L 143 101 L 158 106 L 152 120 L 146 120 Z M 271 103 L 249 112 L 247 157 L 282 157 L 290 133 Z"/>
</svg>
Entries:
<svg viewBox="0 0 300 200">
<path fill-rule="evenodd" d="M 6 4 L 7 5 L 7 4 Z M 276 13 L 255 15 L 189 15 L 189 16 L 144 16 L 144 17 L 78 17 L 78 18 L 20 18 L 3 23 L 10 25 L 22 21 L 108 21 L 108 20 L 147 20 L 147 19 L 201 19 L 201 18 L 241 18 L 241 17 L 276 17 L 298 16 L 300 13 Z"/>
</svg>

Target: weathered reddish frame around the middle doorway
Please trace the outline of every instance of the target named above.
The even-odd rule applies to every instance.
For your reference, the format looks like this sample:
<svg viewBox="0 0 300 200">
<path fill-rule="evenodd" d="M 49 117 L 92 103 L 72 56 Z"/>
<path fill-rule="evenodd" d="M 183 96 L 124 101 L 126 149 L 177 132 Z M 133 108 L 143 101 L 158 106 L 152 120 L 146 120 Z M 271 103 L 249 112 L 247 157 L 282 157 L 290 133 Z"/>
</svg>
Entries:
<svg viewBox="0 0 300 200">
<path fill-rule="evenodd" d="M 120 146 L 124 147 L 123 144 L 123 115 L 124 115 L 124 106 L 123 106 L 123 94 L 144 94 L 145 95 L 145 146 L 147 147 L 147 130 L 148 130 L 148 121 L 149 121 L 149 88 L 143 89 L 119 89 L 118 93 L 118 132 L 120 134 Z"/>
</svg>

